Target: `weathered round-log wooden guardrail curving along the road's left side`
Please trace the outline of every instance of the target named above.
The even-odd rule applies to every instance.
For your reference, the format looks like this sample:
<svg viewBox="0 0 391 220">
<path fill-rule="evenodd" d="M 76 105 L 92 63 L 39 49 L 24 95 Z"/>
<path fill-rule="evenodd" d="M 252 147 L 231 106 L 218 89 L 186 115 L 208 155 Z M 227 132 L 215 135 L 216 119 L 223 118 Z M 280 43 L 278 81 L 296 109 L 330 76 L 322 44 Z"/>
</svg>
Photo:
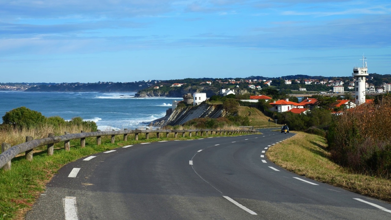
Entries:
<svg viewBox="0 0 391 220">
<path fill-rule="evenodd" d="M 37 148 L 39 146 L 47 145 L 47 154 L 53 155 L 53 148 L 54 144 L 58 142 L 64 142 L 64 148 L 66 151 L 70 150 L 70 140 L 74 139 L 80 139 L 80 147 L 85 147 L 85 140 L 86 137 L 96 137 L 97 138 L 97 144 L 100 145 L 100 140 L 102 136 L 111 136 L 111 143 L 114 144 L 115 142 L 115 135 L 124 135 L 124 141 L 127 141 L 127 135 L 128 134 L 135 134 L 135 140 L 138 140 L 138 135 L 140 133 L 145 133 L 145 139 L 149 138 L 149 133 L 156 133 L 157 138 L 160 138 L 161 133 L 165 133 L 165 137 L 169 137 L 169 133 L 174 133 L 174 137 L 178 137 L 178 133 L 182 134 L 182 137 L 185 137 L 185 133 L 189 132 L 189 136 L 192 136 L 192 132 L 195 132 L 195 136 L 198 136 L 200 134 L 201 136 L 206 132 L 206 135 L 208 135 L 208 132 L 210 134 L 219 133 L 221 135 L 228 135 L 233 133 L 257 133 L 256 130 L 214 130 L 214 129 L 195 129 L 195 130 L 120 130 L 120 131 L 100 131 L 97 132 L 83 132 L 81 133 L 68 133 L 65 132 L 65 135 L 61 136 L 54 136 L 54 134 L 50 133 L 47 138 L 42 139 L 36 139 L 33 140 L 32 137 L 26 137 L 26 142 L 22 144 L 18 144 L 11 147 L 11 144 L 3 143 L 2 144 L 2 153 L 0 154 L 0 168 L 3 168 L 4 170 L 11 169 L 11 160 L 16 157 L 16 155 L 25 152 L 25 158 L 26 160 L 31 161 L 32 160 L 32 152 L 34 148 Z"/>
</svg>

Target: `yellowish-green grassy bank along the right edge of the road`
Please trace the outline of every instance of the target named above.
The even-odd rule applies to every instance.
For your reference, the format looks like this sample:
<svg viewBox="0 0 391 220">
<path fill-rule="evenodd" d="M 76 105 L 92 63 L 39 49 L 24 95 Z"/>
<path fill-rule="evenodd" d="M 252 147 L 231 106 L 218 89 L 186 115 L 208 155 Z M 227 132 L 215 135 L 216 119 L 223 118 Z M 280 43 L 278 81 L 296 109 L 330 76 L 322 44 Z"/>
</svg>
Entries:
<svg viewBox="0 0 391 220">
<path fill-rule="evenodd" d="M 269 148 L 268 159 L 298 175 L 391 202 L 391 180 L 353 173 L 329 159 L 325 138 L 295 133 L 293 138 Z"/>
</svg>

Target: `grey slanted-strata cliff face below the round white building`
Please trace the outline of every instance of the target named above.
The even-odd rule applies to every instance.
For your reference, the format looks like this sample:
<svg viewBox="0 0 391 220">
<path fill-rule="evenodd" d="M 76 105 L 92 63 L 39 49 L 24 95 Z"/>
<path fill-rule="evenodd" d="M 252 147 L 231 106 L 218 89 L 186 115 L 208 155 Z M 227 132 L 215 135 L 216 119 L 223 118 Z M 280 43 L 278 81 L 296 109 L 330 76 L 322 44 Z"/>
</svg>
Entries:
<svg viewBox="0 0 391 220">
<path fill-rule="evenodd" d="M 218 118 L 224 117 L 226 112 L 222 105 L 201 104 L 194 107 L 175 108 L 171 114 L 152 121 L 149 126 L 163 127 L 165 125 L 180 125 L 195 118 Z"/>
</svg>

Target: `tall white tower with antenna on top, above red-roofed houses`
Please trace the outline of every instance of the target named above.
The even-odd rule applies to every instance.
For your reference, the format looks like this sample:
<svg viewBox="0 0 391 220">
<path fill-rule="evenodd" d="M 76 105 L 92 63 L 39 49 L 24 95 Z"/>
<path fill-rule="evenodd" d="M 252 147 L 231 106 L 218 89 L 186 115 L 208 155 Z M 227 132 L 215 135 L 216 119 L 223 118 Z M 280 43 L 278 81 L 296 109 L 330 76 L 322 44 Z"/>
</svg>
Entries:
<svg viewBox="0 0 391 220">
<path fill-rule="evenodd" d="M 366 65 L 366 58 L 362 56 L 362 67 L 354 67 L 352 75 L 354 76 L 354 82 L 356 84 L 356 105 L 365 103 L 365 77 L 368 76 L 368 67 Z M 364 66 L 365 63 L 365 66 Z"/>
</svg>

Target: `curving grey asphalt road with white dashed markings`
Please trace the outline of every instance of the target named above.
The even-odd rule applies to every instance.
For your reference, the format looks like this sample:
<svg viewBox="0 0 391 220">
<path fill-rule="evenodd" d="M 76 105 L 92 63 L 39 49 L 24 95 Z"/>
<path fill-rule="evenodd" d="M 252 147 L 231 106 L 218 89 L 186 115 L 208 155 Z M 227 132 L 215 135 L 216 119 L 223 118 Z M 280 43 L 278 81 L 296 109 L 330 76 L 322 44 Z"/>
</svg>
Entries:
<svg viewBox="0 0 391 220">
<path fill-rule="evenodd" d="M 267 160 L 267 148 L 294 133 L 261 132 L 137 144 L 77 160 L 59 170 L 25 217 L 391 219 L 390 204 L 306 179 Z"/>
</svg>

